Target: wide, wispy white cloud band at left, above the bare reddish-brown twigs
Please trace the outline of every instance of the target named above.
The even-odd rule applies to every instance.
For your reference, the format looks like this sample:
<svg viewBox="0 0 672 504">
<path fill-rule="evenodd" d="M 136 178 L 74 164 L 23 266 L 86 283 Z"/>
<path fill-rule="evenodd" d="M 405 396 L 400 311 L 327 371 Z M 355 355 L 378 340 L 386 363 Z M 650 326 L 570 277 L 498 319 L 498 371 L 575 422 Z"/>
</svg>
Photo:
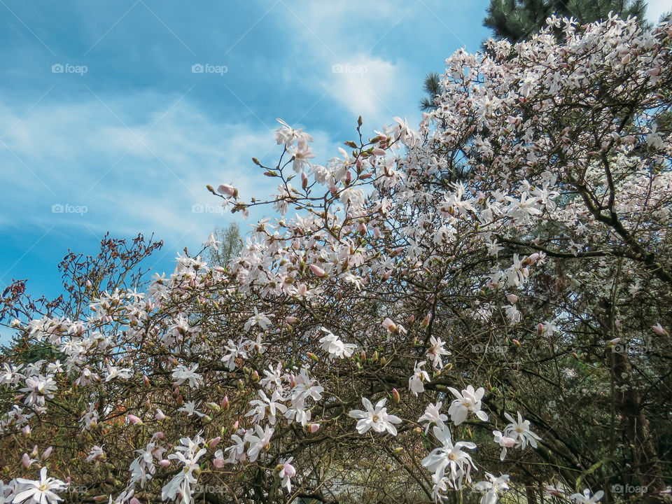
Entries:
<svg viewBox="0 0 672 504">
<path fill-rule="evenodd" d="M 272 192 L 271 179 L 251 162 L 253 156 L 272 162 L 281 153 L 271 130 L 215 120 L 188 99 L 163 116 L 176 98 L 151 98 L 103 98 L 114 114 L 94 97 L 71 105 L 41 102 L 24 118 L 27 106 L 0 102 L 0 132 L 9 130 L 0 144 L 6 193 L 0 214 L 11 216 L 0 225 L 86 225 L 116 236 L 154 231 L 181 239 L 178 249 L 191 248 L 214 225 L 242 221 L 218 209 L 206 184 L 232 183 L 246 200 Z M 53 204 L 87 211 L 53 214 Z M 194 205 L 201 207 L 194 212 Z"/>
</svg>

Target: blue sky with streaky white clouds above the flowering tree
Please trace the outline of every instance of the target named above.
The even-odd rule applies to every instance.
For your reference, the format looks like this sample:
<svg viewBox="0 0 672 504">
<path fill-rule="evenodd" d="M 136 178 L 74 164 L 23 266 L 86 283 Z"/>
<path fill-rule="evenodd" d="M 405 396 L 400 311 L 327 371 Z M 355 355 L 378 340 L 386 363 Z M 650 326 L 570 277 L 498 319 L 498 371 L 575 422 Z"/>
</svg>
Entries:
<svg viewBox="0 0 672 504">
<path fill-rule="evenodd" d="M 276 118 L 313 135 L 316 162 L 360 114 L 370 132 L 417 124 L 423 76 L 478 50 L 487 3 L 0 0 L 0 287 L 54 297 L 68 248 L 106 231 L 154 232 L 147 266 L 172 272 L 232 219 L 206 184 L 272 192 L 251 158 L 279 155 Z"/>
</svg>

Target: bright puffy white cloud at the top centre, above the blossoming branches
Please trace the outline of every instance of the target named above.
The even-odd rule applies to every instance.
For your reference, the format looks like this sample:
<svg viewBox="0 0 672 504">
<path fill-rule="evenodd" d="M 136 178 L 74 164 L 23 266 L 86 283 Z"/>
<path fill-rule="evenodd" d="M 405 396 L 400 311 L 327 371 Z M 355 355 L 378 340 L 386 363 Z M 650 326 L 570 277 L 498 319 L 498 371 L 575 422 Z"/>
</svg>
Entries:
<svg viewBox="0 0 672 504">
<path fill-rule="evenodd" d="M 384 56 L 384 41 L 405 19 L 409 5 L 394 1 L 381 8 L 377 3 L 346 1 L 285 3 L 279 22 L 295 39 L 304 62 L 304 85 L 326 92 L 353 119 L 363 116 L 372 130 L 391 124 L 394 116 L 419 120 L 415 102 L 417 78 L 402 60 Z M 417 7 L 416 7 L 417 10 Z M 286 79 L 295 79 L 288 69 Z"/>
</svg>

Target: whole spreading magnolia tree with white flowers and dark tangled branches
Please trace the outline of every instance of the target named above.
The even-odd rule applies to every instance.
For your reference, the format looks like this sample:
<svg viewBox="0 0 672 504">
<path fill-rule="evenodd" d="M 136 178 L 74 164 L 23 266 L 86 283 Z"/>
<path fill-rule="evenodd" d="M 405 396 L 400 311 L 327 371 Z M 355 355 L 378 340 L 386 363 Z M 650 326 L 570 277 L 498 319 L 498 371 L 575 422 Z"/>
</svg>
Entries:
<svg viewBox="0 0 672 504">
<path fill-rule="evenodd" d="M 276 195 L 209 188 L 280 215 L 230 268 L 73 273 L 45 311 L 12 286 L 43 353 L 3 360 L 0 498 L 664 500 L 671 48 L 669 21 L 551 18 L 458 51 L 418 130 L 360 120 L 318 165 L 281 123 Z"/>
</svg>

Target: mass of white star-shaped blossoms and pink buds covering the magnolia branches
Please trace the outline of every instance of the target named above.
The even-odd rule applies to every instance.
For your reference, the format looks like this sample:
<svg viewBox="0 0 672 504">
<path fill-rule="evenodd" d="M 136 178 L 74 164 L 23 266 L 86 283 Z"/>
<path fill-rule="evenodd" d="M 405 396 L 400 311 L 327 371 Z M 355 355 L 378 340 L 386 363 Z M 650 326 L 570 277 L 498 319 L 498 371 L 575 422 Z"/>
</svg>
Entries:
<svg viewBox="0 0 672 504">
<path fill-rule="evenodd" d="M 672 156 L 672 139 L 657 130 L 647 111 L 664 103 L 655 86 L 671 78 L 671 57 L 664 50 L 672 39 L 671 23 L 645 31 L 632 20 L 609 18 L 584 29 L 565 22 L 563 30 L 562 46 L 547 28 L 514 46 L 491 43 L 490 55 L 456 52 L 447 60 L 440 106 L 423 117 L 419 130 L 395 118 L 370 141 L 349 142 L 354 151 L 341 148 L 340 157 L 325 165 L 309 161 L 314 158 L 309 134 L 281 122 L 275 139 L 288 159 L 268 169 L 281 183 L 265 203 L 274 204 L 282 218 L 260 221 L 230 269 L 182 255 L 175 271 L 156 275 L 146 294 L 116 288 L 97 294 L 82 320 L 16 324 L 60 360 L 3 363 L 0 386 L 13 400 L 0 432 L 27 437 L 50 400 L 75 388 L 85 398 L 77 419 L 87 435 L 102 423 L 130 432 L 148 429 L 151 440 L 140 437 L 134 445 L 137 456 L 127 488 L 116 497 L 119 503 L 137 501 L 135 491 L 158 484 L 158 467 L 179 467 L 167 484 L 160 482 L 161 498 L 192 503 L 200 465 L 206 463 L 214 472 L 225 463 L 234 470 L 245 470 L 247 461 L 272 464 L 268 472 L 291 492 L 301 458 L 287 455 L 300 453 L 300 440 L 287 437 L 292 429 L 279 428 L 281 422 L 298 423 L 308 433 L 321 425 L 346 428 L 339 435 L 358 440 L 370 431 L 411 436 L 406 423 L 420 423 L 424 433 L 431 427 L 437 442 L 421 461 L 433 496 L 440 499 L 471 483 L 476 464 L 470 451 L 477 446 L 455 442 L 451 425 L 461 426 L 470 416 L 490 420 L 482 403 L 485 389 L 467 385 L 458 391 L 447 386 L 459 383 L 450 377 L 455 381 L 444 381 L 442 389 L 454 396 L 447 411 L 442 402 L 429 402 L 437 395 L 437 381 L 447 380 L 451 365 L 444 359 L 454 358 L 451 345 L 459 338 L 430 331 L 443 321 L 428 314 L 428 306 L 454 295 L 461 316 L 496 337 L 520 325 L 551 339 L 561 330 L 561 314 L 530 320 L 521 306 L 549 258 L 620 253 L 640 260 L 647 244 L 662 248 L 670 241 L 670 228 L 660 223 L 669 218 L 672 183 L 669 172 L 659 168 Z M 620 127 L 618 118 L 604 111 L 591 131 L 568 125 L 558 135 L 548 133 L 558 130 L 563 103 L 600 106 L 591 90 L 596 79 L 612 73 L 624 75 L 621 92 L 645 107 L 632 127 Z M 457 153 L 469 176 L 447 181 L 453 168 L 447 159 Z M 300 186 L 290 185 L 293 176 Z M 217 192 L 244 214 L 260 204 L 246 204 L 230 184 Z M 288 216 L 290 209 L 297 215 Z M 556 236 L 547 238 L 540 232 L 545 228 Z M 502 253 L 512 246 L 518 252 Z M 643 263 L 638 271 L 664 274 L 655 263 Z M 327 305 L 337 309 L 330 312 Z M 358 310 L 365 314 L 365 327 L 352 316 Z M 420 321 L 409 313 L 427 315 Z M 344 318 L 330 325 L 338 335 L 324 327 L 332 314 Z M 660 323 L 650 324 L 655 334 L 667 334 Z M 424 335 L 422 342 L 418 337 Z M 378 349 L 386 356 L 379 358 Z M 280 362 L 285 357 L 291 362 Z M 385 367 L 384 358 L 395 359 L 395 366 Z M 379 367 L 360 372 L 372 365 Z M 383 368 L 388 381 L 376 375 Z M 354 398 L 344 398 L 330 383 L 344 376 L 356 376 Z M 400 402 L 393 386 L 406 380 L 414 396 L 408 408 L 388 412 L 381 395 L 391 388 L 394 402 Z M 150 388 L 144 396 L 129 393 Z M 209 454 L 219 437 L 206 442 L 200 429 L 210 425 L 213 412 L 232 407 L 225 393 L 237 395 L 235 411 L 218 418 L 221 435 L 231 428 L 232 444 Z M 360 400 L 365 409 L 349 411 L 356 422 L 339 423 L 324 413 L 327 406 Z M 425 411 L 416 422 L 417 404 Z M 315 419 L 318 411 L 325 417 Z M 510 423 L 493 431 L 502 461 L 507 449 L 538 446 L 540 437 L 521 413 L 517 419 L 504 416 Z M 85 461 L 102 460 L 103 446 L 109 451 L 103 442 L 90 442 L 82 452 Z M 475 489 L 484 493 L 482 504 L 493 504 L 509 476 L 486 472 L 486 477 Z M 52 504 L 62 485 L 47 479 L 43 468 L 40 482 L 16 478 L 8 488 L 14 502 Z M 572 498 L 595 502 L 601 496 L 598 491 Z"/>
</svg>

